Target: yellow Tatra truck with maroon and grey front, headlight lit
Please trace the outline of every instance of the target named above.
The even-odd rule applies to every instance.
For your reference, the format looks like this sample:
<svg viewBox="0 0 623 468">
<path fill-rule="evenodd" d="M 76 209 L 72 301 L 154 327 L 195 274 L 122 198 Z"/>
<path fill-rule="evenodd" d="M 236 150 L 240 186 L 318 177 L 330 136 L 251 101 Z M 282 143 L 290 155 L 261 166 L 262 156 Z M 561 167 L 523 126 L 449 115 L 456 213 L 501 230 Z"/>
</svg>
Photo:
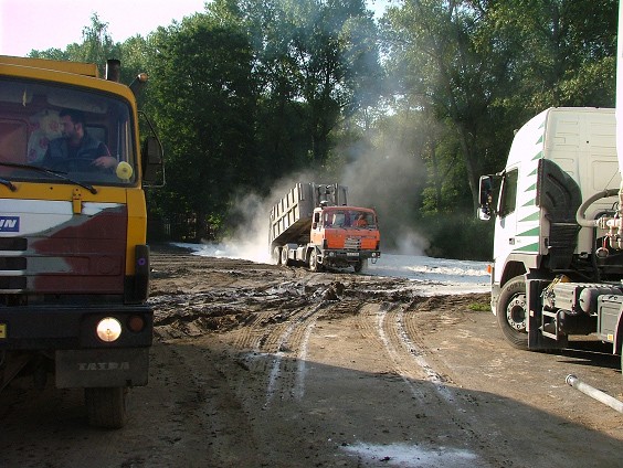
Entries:
<svg viewBox="0 0 623 468">
<path fill-rule="evenodd" d="M 126 422 L 147 384 L 152 310 L 136 92 L 94 64 L 0 56 L 0 391 L 14 377 L 85 392 L 88 421 Z"/>
</svg>

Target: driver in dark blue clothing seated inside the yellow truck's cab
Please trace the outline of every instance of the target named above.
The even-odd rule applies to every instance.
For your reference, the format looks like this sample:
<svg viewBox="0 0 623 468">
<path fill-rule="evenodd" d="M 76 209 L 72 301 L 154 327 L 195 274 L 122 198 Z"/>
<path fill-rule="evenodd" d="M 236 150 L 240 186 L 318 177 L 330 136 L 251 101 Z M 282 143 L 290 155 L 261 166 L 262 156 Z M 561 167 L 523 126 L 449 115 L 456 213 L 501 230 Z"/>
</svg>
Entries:
<svg viewBox="0 0 623 468">
<path fill-rule="evenodd" d="M 67 160 L 92 160 L 101 169 L 115 168 L 117 160 L 110 156 L 106 145 L 86 132 L 84 114 L 63 109 L 59 114 L 63 136 L 50 141 L 43 166 L 54 167 Z"/>
</svg>

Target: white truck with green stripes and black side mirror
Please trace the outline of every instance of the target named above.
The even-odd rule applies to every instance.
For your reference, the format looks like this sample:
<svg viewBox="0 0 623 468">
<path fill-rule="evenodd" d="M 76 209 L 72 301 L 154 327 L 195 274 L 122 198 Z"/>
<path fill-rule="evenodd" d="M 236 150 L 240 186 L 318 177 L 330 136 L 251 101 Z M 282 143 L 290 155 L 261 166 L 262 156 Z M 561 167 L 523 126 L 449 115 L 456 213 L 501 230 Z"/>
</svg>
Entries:
<svg viewBox="0 0 623 468">
<path fill-rule="evenodd" d="M 622 20 L 620 6 L 619 55 Z M 621 354 L 622 66 L 616 110 L 547 109 L 516 134 L 505 169 L 481 178 L 479 217 L 495 217 L 492 310 L 516 348 L 595 333 Z"/>
</svg>

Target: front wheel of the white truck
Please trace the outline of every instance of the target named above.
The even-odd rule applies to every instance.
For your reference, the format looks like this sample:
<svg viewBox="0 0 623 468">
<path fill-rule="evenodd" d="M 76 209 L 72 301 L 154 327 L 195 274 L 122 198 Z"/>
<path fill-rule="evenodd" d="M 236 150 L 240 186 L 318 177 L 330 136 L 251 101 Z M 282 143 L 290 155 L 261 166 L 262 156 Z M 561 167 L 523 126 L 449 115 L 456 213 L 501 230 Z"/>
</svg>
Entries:
<svg viewBox="0 0 623 468">
<path fill-rule="evenodd" d="M 526 323 L 528 311 L 526 310 L 526 281 L 522 276 L 516 276 L 501 289 L 497 300 L 497 322 L 505 338 L 514 348 L 528 349 L 528 332 Z"/>
</svg>

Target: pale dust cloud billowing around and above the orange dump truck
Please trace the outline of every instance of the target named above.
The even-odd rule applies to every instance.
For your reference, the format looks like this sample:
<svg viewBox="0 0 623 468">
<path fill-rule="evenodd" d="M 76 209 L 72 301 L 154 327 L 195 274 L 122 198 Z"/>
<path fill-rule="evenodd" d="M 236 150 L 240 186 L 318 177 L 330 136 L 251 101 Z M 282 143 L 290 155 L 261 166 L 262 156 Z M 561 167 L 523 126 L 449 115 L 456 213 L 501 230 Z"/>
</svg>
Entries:
<svg viewBox="0 0 623 468">
<path fill-rule="evenodd" d="M 413 224 L 424 183 L 420 158 L 401 151 L 395 138 L 388 138 L 393 148 L 372 149 L 373 145 L 341 148 L 348 162 L 332 170 L 300 172 L 279 180 L 271 193 L 239 194 L 232 219 L 235 227 L 224 237 L 219 249 L 233 258 L 271 262 L 268 221 L 272 206 L 297 182 L 339 183 L 348 187 L 348 203 L 373 208 L 381 230 L 381 252 L 400 255 L 425 255 L 429 242 Z M 381 143 L 380 147 L 388 147 Z"/>
</svg>

